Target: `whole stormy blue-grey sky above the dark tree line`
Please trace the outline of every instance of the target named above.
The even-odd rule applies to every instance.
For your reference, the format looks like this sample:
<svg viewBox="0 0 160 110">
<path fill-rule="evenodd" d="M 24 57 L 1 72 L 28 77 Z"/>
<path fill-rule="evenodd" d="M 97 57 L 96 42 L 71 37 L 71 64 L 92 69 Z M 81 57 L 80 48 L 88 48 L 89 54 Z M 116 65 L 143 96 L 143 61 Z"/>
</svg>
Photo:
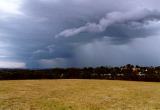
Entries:
<svg viewBox="0 0 160 110">
<path fill-rule="evenodd" d="M 160 65 L 158 0 L 0 0 L 0 68 Z"/>
</svg>

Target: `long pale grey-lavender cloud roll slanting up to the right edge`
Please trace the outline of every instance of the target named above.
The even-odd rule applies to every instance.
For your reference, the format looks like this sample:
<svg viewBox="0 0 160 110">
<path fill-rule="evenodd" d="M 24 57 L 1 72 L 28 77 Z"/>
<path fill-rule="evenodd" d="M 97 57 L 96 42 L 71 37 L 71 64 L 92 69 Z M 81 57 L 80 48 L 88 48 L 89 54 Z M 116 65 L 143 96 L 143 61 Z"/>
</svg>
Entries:
<svg viewBox="0 0 160 110">
<path fill-rule="evenodd" d="M 114 24 L 124 24 L 132 22 L 145 22 L 147 20 L 156 20 L 160 18 L 160 12 L 150 10 L 137 10 L 134 12 L 111 12 L 104 18 L 100 19 L 98 23 L 87 23 L 79 28 L 66 29 L 60 32 L 55 37 L 70 37 L 82 32 L 103 32 L 109 26 Z"/>
</svg>

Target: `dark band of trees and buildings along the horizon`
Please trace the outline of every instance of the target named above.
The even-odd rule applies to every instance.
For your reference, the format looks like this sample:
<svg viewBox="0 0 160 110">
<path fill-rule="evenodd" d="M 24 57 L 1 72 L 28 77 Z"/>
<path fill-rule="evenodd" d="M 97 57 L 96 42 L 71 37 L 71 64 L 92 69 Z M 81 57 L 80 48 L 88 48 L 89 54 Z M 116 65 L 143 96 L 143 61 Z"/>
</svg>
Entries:
<svg viewBox="0 0 160 110">
<path fill-rule="evenodd" d="M 0 80 L 16 79 L 110 79 L 159 82 L 160 66 L 142 67 L 127 64 L 121 67 L 0 69 Z"/>
</svg>

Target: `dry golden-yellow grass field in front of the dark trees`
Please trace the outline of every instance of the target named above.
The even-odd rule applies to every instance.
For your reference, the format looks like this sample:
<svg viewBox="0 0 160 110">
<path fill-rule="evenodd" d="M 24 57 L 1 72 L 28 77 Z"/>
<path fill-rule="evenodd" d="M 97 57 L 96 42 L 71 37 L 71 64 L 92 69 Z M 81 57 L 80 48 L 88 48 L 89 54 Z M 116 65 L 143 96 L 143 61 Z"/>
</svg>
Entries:
<svg viewBox="0 0 160 110">
<path fill-rule="evenodd" d="M 0 110 L 160 110 L 160 83 L 0 81 Z"/>
</svg>

